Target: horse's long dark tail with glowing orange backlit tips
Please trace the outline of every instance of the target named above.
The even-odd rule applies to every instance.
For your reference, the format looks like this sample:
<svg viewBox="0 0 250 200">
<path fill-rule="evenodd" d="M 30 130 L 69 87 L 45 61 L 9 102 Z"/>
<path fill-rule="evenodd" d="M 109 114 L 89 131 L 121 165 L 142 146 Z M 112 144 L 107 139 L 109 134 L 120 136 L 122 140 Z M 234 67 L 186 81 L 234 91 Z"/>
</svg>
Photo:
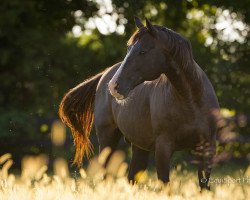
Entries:
<svg viewBox="0 0 250 200">
<path fill-rule="evenodd" d="M 72 132 L 76 147 L 73 164 L 82 164 L 83 156 L 93 150 L 89 135 L 94 122 L 96 87 L 105 71 L 87 79 L 67 92 L 59 106 L 59 116 Z"/>
</svg>

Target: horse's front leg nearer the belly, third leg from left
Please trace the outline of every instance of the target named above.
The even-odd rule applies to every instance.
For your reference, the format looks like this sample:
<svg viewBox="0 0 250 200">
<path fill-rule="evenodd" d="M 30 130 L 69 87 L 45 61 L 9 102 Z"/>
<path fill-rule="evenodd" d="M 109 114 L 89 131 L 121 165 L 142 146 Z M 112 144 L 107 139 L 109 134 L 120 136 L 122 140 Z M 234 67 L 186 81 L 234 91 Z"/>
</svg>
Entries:
<svg viewBox="0 0 250 200">
<path fill-rule="evenodd" d="M 155 159 L 158 179 L 163 183 L 169 182 L 170 159 L 173 154 L 173 143 L 164 135 L 158 136 L 155 144 Z"/>
</svg>

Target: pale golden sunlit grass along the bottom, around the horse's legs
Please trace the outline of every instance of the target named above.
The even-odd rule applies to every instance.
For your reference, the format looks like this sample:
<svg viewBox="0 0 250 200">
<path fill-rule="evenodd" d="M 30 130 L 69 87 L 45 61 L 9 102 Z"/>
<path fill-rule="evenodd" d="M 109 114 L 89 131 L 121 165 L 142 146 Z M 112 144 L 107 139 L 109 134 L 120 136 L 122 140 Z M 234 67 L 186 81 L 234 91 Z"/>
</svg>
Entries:
<svg viewBox="0 0 250 200">
<path fill-rule="evenodd" d="M 54 175 L 47 175 L 43 157 L 26 158 L 20 176 L 9 174 L 13 161 L 5 154 L 0 157 L 0 200 L 250 199 L 250 167 L 217 167 L 210 180 L 212 190 L 200 192 L 196 173 L 180 165 L 172 170 L 169 185 L 147 173 L 139 173 L 138 184 L 130 185 L 122 156 L 117 153 L 104 171 L 105 156 L 93 159 L 86 170 L 80 169 L 78 178 L 72 178 L 63 159 L 54 163 Z"/>
</svg>

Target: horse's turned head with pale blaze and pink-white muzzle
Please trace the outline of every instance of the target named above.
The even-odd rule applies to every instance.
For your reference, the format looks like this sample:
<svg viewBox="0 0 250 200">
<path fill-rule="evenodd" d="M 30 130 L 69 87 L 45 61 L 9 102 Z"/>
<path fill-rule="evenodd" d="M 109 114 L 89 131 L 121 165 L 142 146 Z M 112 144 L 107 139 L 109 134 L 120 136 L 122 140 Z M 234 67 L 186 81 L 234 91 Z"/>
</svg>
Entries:
<svg viewBox="0 0 250 200">
<path fill-rule="evenodd" d="M 146 19 L 146 26 L 135 17 L 138 30 L 128 41 L 127 55 L 110 80 L 110 93 L 119 100 L 144 81 L 152 81 L 165 71 L 166 53 L 163 51 L 160 33 Z"/>
</svg>

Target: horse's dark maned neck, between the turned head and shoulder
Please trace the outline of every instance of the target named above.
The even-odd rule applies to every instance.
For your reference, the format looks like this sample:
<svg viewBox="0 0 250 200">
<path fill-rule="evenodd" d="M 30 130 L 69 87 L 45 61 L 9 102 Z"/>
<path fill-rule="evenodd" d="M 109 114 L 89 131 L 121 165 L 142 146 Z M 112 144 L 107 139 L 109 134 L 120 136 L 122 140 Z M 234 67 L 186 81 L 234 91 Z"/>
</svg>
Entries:
<svg viewBox="0 0 250 200">
<path fill-rule="evenodd" d="M 203 93 L 201 72 L 193 60 L 190 42 L 178 34 L 174 36 L 166 34 L 162 39 L 161 45 L 168 61 L 170 60 L 167 62 L 170 66 L 166 71 L 168 79 L 183 99 L 201 106 Z"/>
</svg>

